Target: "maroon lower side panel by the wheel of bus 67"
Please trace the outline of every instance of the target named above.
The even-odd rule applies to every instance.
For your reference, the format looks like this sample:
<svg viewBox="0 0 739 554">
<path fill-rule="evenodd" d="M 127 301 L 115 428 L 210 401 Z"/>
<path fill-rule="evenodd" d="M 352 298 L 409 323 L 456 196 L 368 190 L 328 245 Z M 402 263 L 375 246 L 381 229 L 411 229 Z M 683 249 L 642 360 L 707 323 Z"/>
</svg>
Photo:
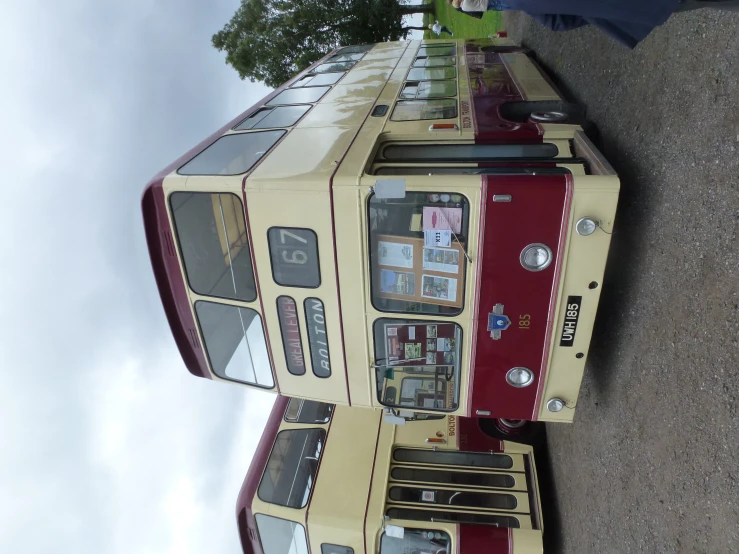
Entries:
<svg viewBox="0 0 739 554">
<path fill-rule="evenodd" d="M 500 114 L 501 105 L 524 99 L 500 54 L 468 50 L 466 55 L 475 141 L 541 142 L 541 131 L 535 123 L 509 121 Z"/>
</svg>

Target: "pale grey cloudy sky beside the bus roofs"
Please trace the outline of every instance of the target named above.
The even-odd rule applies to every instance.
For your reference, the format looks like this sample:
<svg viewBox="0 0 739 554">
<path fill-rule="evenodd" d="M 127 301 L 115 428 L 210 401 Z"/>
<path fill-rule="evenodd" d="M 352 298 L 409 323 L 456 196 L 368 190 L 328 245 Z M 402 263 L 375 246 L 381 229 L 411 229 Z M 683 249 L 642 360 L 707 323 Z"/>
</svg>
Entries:
<svg viewBox="0 0 739 554">
<path fill-rule="evenodd" d="M 6 2 L 0 552 L 238 553 L 272 396 L 190 376 L 148 179 L 264 96 L 209 43 L 238 0 Z"/>
</svg>

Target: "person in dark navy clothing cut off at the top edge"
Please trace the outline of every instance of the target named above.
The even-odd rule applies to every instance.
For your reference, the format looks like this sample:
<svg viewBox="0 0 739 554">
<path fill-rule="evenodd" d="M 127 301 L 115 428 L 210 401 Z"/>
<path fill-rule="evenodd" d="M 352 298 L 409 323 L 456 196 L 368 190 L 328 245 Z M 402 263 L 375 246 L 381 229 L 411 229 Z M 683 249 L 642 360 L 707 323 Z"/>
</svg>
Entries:
<svg viewBox="0 0 739 554">
<path fill-rule="evenodd" d="M 627 48 L 635 48 L 676 11 L 701 8 L 739 11 L 739 0 L 447 0 L 479 17 L 488 10 L 519 10 L 553 31 L 593 25 Z"/>
</svg>

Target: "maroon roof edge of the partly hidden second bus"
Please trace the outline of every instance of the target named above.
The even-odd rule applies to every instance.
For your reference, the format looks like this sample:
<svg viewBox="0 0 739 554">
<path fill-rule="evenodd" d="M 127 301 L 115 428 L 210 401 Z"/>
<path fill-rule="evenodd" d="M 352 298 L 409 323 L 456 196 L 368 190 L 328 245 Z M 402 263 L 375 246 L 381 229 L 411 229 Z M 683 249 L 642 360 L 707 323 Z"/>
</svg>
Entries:
<svg viewBox="0 0 739 554">
<path fill-rule="evenodd" d="M 236 500 L 236 524 L 239 528 L 241 548 L 244 550 L 244 554 L 263 554 L 262 545 L 259 543 L 259 534 L 257 533 L 257 521 L 252 511 L 252 500 L 257 494 L 259 481 L 261 481 L 262 473 L 267 466 L 267 459 L 270 452 L 272 452 L 272 445 L 275 443 L 289 401 L 290 399 L 286 396 L 278 396 L 275 400 L 272 412 L 269 414 L 269 419 L 267 419 L 267 425 L 265 425 L 262 432 L 262 438 L 259 439 L 254 457 L 251 464 L 249 464 L 249 471 L 246 473 L 246 478 L 244 478 L 244 483 L 241 485 Z"/>
</svg>

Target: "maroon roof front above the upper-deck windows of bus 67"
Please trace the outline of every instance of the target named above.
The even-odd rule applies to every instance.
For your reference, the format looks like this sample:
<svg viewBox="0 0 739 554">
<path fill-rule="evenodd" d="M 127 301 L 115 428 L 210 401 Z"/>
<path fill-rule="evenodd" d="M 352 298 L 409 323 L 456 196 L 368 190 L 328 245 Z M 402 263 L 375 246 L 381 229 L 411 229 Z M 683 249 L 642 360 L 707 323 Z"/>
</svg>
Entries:
<svg viewBox="0 0 739 554">
<path fill-rule="evenodd" d="M 162 179 L 146 187 L 141 199 L 141 209 L 149 258 L 172 336 L 188 371 L 198 377 L 210 379 L 167 217 Z"/>
</svg>

